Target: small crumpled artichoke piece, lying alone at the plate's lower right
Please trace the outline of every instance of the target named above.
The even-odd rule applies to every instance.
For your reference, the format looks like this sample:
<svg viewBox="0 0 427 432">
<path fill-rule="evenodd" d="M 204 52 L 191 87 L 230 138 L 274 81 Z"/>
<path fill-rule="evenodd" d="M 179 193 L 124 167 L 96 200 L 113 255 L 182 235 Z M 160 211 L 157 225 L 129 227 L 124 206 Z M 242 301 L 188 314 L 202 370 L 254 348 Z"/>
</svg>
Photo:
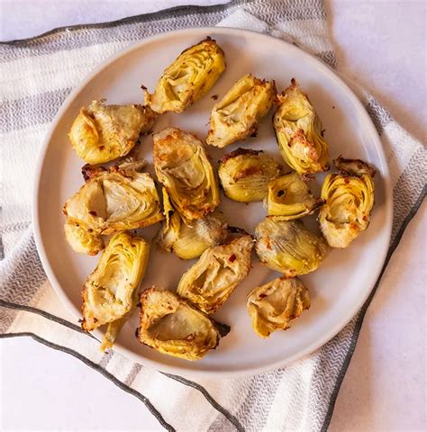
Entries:
<svg viewBox="0 0 427 432">
<path fill-rule="evenodd" d="M 253 329 L 268 338 L 273 331 L 289 329 L 310 308 L 310 295 L 297 277 L 282 276 L 252 290 L 246 305 Z"/>
</svg>

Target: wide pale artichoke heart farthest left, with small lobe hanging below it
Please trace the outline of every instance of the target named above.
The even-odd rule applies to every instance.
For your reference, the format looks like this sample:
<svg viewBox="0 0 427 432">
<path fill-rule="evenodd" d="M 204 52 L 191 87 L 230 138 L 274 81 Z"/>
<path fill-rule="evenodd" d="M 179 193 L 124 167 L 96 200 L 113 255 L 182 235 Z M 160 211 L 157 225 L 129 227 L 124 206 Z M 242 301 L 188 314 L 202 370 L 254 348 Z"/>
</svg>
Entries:
<svg viewBox="0 0 427 432">
<path fill-rule="evenodd" d="M 64 204 L 66 238 L 76 252 L 96 255 L 103 247 L 101 235 L 163 219 L 154 181 L 140 166 L 84 167 L 86 184 Z"/>
</svg>

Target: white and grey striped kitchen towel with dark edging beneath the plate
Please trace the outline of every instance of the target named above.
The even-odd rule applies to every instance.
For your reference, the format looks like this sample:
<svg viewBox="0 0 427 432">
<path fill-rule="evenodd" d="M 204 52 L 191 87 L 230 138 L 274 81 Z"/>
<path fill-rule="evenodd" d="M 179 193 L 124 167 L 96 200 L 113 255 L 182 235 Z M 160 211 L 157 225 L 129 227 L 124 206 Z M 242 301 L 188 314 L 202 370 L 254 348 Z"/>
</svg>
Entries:
<svg viewBox="0 0 427 432">
<path fill-rule="evenodd" d="M 80 329 L 59 302 L 37 255 L 31 222 L 34 158 L 65 97 L 99 62 L 132 42 L 162 31 L 212 25 L 290 40 L 337 67 L 321 0 L 238 0 L 177 7 L 0 45 L 0 336 L 33 338 L 77 357 L 141 400 L 168 430 L 324 430 L 368 304 L 425 193 L 427 156 L 422 144 L 359 89 L 355 90 L 381 134 L 393 177 L 393 238 L 366 304 L 345 329 L 311 356 L 268 374 L 190 381 L 153 371 L 114 351 L 103 355 L 98 341 Z"/>
</svg>

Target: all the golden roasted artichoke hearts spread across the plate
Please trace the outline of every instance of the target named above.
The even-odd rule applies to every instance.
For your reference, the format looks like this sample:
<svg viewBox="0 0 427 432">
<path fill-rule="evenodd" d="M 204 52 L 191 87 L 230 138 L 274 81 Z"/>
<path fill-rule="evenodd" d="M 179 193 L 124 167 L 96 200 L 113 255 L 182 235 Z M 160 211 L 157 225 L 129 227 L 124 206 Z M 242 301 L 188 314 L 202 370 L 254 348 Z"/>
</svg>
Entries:
<svg viewBox="0 0 427 432">
<path fill-rule="evenodd" d="M 86 163 L 85 183 L 64 204 L 64 230 L 77 253 L 103 251 L 82 290 L 82 328 L 106 326 L 102 350 L 113 347 L 139 307 L 135 334 L 141 344 L 186 360 L 202 358 L 230 331 L 212 314 L 250 273 L 252 249 L 261 264 L 281 274 L 248 294 L 253 329 L 261 338 L 288 329 L 310 307 L 298 276 L 316 270 L 331 247 L 349 247 L 368 228 L 372 166 L 340 156 L 321 196 L 310 190 L 313 175 L 330 169 L 329 146 L 313 104 L 294 78 L 277 94 L 274 81 L 242 76 L 214 103 L 206 145 L 173 127 L 152 133 L 159 115 L 186 111 L 225 68 L 223 49 L 206 38 L 164 70 L 152 93 L 142 85 L 143 105 L 100 99 L 81 108 L 72 123 L 68 137 Z M 207 148 L 250 137 L 253 147 L 259 123 L 272 109 L 282 160 L 238 148 L 223 154 L 214 169 Z M 145 171 L 137 151 L 150 133 L 156 178 Z M 220 190 L 228 200 L 264 203 L 266 217 L 252 235 L 228 225 L 218 209 Z M 302 221 L 315 211 L 322 235 Z M 136 231 L 159 222 L 153 242 Z M 140 295 L 152 247 L 196 260 L 175 291 L 152 286 Z"/>
</svg>

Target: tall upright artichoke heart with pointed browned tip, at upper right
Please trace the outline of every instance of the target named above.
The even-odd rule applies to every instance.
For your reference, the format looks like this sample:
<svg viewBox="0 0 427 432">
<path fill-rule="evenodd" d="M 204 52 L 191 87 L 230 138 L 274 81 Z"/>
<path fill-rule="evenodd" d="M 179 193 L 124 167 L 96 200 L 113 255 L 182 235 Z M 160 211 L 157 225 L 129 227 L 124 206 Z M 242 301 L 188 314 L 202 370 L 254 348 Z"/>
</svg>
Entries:
<svg viewBox="0 0 427 432">
<path fill-rule="evenodd" d="M 286 164 L 299 174 L 327 171 L 329 146 L 323 139 L 322 122 L 294 78 L 278 99 L 273 123 Z"/>
</svg>

